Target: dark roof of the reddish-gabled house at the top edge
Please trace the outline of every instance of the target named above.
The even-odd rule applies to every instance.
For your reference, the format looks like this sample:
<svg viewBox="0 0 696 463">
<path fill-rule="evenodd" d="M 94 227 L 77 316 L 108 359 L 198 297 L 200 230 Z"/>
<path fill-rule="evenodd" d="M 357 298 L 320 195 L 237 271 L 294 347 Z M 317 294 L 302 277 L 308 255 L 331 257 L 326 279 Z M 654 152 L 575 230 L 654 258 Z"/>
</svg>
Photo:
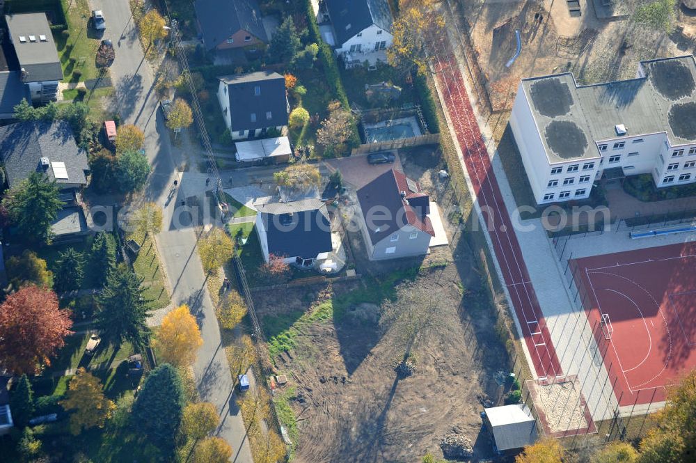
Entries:
<svg viewBox="0 0 696 463">
<path fill-rule="evenodd" d="M 242 30 L 268 42 L 255 0 L 196 0 L 194 7 L 207 49 L 217 47 Z"/>
</svg>

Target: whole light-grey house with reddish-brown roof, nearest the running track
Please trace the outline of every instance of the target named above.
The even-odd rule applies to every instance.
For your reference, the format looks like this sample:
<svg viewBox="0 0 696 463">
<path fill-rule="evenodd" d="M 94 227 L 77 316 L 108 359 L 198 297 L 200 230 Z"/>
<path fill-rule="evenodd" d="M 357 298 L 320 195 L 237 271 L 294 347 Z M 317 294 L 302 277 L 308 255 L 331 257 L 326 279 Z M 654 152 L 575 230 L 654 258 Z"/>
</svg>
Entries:
<svg viewBox="0 0 696 463">
<path fill-rule="evenodd" d="M 394 169 L 358 189 L 358 214 L 370 260 L 420 256 L 435 235 L 428 195 Z"/>
</svg>

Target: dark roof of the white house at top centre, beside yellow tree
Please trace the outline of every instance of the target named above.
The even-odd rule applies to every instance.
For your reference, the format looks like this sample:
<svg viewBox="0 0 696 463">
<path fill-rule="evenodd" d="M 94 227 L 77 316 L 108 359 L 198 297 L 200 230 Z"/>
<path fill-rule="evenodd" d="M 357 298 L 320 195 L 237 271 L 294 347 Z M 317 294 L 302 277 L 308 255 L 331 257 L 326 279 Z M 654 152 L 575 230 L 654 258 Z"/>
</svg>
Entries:
<svg viewBox="0 0 696 463">
<path fill-rule="evenodd" d="M 336 45 L 342 45 L 356 33 L 375 24 L 391 32 L 392 15 L 387 0 L 326 0 Z"/>
</svg>

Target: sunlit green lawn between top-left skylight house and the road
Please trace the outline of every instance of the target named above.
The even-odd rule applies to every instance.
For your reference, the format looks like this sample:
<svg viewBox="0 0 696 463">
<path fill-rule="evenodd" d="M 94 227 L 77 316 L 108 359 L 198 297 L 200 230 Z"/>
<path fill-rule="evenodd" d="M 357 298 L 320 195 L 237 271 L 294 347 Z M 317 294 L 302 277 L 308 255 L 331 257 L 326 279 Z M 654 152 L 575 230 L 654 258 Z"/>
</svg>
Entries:
<svg viewBox="0 0 696 463">
<path fill-rule="evenodd" d="M 95 56 L 100 39 L 95 38 L 94 30 L 88 26 L 91 15 L 88 0 L 61 0 L 61 4 L 70 36 L 65 37 L 62 32 L 56 31 L 53 37 L 56 40 L 58 57 L 61 59 L 63 81 L 95 79 L 98 75 Z M 81 75 L 76 75 L 75 71 L 81 72 Z"/>
</svg>

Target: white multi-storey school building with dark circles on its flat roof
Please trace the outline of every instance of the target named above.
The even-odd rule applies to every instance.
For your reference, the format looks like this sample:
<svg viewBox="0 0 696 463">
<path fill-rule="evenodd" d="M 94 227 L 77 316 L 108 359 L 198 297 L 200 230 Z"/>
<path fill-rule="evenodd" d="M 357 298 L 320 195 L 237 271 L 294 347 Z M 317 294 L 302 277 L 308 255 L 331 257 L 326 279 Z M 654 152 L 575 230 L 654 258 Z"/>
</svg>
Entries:
<svg viewBox="0 0 696 463">
<path fill-rule="evenodd" d="M 696 61 L 642 61 L 635 79 L 590 86 L 571 72 L 523 79 L 509 123 L 538 204 L 585 199 L 600 178 L 693 183 Z"/>
</svg>

